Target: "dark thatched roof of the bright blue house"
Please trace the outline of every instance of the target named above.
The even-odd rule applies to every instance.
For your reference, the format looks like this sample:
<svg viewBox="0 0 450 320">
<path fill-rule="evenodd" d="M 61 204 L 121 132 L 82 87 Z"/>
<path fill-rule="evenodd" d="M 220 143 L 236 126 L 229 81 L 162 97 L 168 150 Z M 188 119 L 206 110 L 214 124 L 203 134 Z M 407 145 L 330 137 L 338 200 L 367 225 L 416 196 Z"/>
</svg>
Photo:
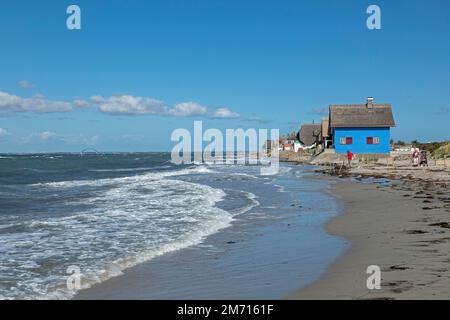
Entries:
<svg viewBox="0 0 450 320">
<path fill-rule="evenodd" d="M 330 127 L 395 127 L 390 104 L 340 104 L 330 106 Z"/>
</svg>

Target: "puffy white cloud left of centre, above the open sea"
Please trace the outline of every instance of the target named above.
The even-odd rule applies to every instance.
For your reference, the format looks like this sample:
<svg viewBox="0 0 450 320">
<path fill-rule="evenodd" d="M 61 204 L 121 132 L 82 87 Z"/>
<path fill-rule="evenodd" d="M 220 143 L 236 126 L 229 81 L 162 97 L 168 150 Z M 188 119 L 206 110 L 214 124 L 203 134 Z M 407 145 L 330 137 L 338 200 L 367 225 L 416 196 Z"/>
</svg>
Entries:
<svg viewBox="0 0 450 320">
<path fill-rule="evenodd" d="M 93 96 L 91 102 L 98 106 L 101 112 L 111 114 L 138 115 L 164 114 L 167 112 L 167 106 L 162 101 L 130 95 L 115 95 L 109 98 Z"/>
</svg>

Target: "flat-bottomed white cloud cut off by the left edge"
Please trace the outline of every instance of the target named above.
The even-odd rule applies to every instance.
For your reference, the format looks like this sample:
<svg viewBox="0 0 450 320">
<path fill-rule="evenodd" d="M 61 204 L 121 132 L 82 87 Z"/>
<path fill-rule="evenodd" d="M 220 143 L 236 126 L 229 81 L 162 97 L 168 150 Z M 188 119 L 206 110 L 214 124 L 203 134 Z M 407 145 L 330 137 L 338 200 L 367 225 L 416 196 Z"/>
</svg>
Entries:
<svg viewBox="0 0 450 320">
<path fill-rule="evenodd" d="M 64 101 L 51 101 L 42 95 L 31 98 L 21 98 L 0 91 L 0 111 L 6 112 L 67 112 L 71 111 L 72 105 Z"/>
</svg>

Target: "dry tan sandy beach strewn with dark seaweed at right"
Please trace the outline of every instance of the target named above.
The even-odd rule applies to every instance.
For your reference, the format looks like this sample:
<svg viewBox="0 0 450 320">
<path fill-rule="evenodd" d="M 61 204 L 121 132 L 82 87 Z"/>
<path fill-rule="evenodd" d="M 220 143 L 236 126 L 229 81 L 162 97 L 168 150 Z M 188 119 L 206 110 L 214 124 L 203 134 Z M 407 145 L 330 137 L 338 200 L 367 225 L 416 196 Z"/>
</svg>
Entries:
<svg viewBox="0 0 450 320">
<path fill-rule="evenodd" d="M 377 176 L 375 171 L 355 168 L 352 174 L 361 180 Z M 351 248 L 319 281 L 288 298 L 450 298 L 448 172 L 378 171 L 378 177 L 400 180 L 377 185 L 347 177 L 332 184 L 343 213 L 326 228 L 349 240 Z M 370 265 L 381 269 L 380 290 L 367 289 Z"/>
</svg>

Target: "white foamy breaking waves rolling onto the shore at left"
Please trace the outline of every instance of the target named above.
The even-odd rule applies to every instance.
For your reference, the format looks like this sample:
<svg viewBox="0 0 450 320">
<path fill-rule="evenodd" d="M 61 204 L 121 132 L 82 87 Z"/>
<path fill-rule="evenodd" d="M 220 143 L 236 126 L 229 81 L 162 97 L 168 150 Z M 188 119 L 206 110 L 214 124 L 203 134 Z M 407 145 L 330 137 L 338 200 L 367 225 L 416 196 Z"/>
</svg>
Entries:
<svg viewBox="0 0 450 320">
<path fill-rule="evenodd" d="M 95 190 L 88 198 L 65 203 L 85 206 L 76 214 L 24 222 L 17 232 L 0 232 L 1 276 L 18 279 L 0 282 L 0 299 L 67 299 L 76 293 L 65 286 L 70 265 L 80 267 L 83 288 L 87 288 L 138 263 L 201 243 L 233 219 L 215 206 L 224 191 L 166 178 L 210 172 L 198 166 L 32 185 L 61 192 L 84 187 Z M 252 194 L 247 196 L 252 199 Z M 7 224 L 0 221 L 0 225 Z M 27 231 L 20 231 L 24 227 Z"/>
</svg>

